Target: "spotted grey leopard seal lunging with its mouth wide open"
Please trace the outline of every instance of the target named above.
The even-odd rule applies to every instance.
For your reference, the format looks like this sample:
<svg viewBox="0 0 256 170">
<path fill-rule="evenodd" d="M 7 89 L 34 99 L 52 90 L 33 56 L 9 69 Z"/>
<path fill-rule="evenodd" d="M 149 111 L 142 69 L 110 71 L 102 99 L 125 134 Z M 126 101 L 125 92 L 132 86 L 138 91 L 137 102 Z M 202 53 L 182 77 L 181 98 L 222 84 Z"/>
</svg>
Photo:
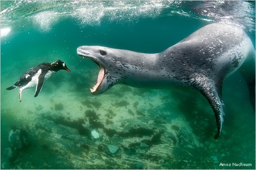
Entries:
<svg viewBox="0 0 256 170">
<path fill-rule="evenodd" d="M 105 46 L 79 46 L 77 54 L 100 67 L 93 95 L 115 84 L 141 88 L 192 88 L 208 100 L 216 117 L 217 139 L 224 121 L 222 83 L 238 69 L 255 107 L 255 50 L 241 27 L 212 23 L 160 53 L 147 54 Z M 245 66 L 241 67 L 245 63 Z M 253 64 L 254 63 L 254 64 Z M 240 68 L 241 67 L 241 68 Z M 251 70 L 248 70 L 251 69 Z"/>
</svg>

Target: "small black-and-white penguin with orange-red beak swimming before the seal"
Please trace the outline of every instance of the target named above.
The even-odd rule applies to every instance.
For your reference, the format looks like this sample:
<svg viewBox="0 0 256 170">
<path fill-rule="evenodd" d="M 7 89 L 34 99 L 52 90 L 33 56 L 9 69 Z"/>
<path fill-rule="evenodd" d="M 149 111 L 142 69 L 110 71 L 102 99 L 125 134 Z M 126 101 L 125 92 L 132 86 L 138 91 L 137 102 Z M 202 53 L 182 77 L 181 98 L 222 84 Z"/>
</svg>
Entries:
<svg viewBox="0 0 256 170">
<path fill-rule="evenodd" d="M 40 63 L 38 66 L 32 67 L 25 74 L 20 76 L 18 81 L 11 87 L 6 88 L 6 90 L 14 90 L 19 87 L 19 102 L 22 100 L 22 91 L 26 88 L 31 88 L 36 86 L 35 97 L 38 96 L 42 89 L 44 78 L 48 79 L 52 73 L 59 70 L 67 70 L 70 72 L 66 64 L 60 59 L 48 63 Z"/>
</svg>

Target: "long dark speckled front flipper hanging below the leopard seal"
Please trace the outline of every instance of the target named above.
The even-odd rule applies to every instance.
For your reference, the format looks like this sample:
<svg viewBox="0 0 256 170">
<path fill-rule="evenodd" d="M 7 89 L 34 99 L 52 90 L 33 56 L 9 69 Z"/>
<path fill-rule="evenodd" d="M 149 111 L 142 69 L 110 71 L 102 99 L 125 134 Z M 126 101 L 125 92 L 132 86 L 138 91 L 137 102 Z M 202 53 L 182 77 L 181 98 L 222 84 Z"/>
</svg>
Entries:
<svg viewBox="0 0 256 170">
<path fill-rule="evenodd" d="M 197 90 L 199 90 L 208 100 L 210 107 L 212 107 L 215 114 L 218 131 L 214 139 L 217 139 L 221 134 L 222 124 L 224 121 L 224 103 L 221 99 L 222 86 L 217 86 L 213 80 L 204 75 L 193 75 L 193 77 L 194 78 L 191 80 L 193 84 L 195 84 L 195 88 L 197 88 Z"/>
</svg>

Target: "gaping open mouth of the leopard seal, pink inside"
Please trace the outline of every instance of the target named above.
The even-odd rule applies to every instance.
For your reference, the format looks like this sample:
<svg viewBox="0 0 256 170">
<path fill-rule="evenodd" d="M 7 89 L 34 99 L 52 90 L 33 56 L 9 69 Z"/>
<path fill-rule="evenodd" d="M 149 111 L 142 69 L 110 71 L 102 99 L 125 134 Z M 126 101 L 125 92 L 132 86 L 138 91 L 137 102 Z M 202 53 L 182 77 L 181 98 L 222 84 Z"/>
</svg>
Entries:
<svg viewBox="0 0 256 170">
<path fill-rule="evenodd" d="M 102 81 L 104 79 L 105 76 L 105 69 L 104 66 L 101 65 L 100 61 L 98 61 L 98 59 L 94 56 L 92 56 L 90 53 L 85 52 L 84 50 L 77 48 L 77 54 L 79 54 L 79 56 L 81 56 L 82 58 L 89 58 L 91 59 L 93 62 L 95 62 L 99 67 L 100 67 L 100 72 L 98 73 L 98 78 L 97 78 L 97 82 L 94 85 L 93 88 L 90 88 L 90 92 L 92 94 L 96 94 L 96 92 L 98 92 L 101 88 L 102 85 Z"/>
</svg>

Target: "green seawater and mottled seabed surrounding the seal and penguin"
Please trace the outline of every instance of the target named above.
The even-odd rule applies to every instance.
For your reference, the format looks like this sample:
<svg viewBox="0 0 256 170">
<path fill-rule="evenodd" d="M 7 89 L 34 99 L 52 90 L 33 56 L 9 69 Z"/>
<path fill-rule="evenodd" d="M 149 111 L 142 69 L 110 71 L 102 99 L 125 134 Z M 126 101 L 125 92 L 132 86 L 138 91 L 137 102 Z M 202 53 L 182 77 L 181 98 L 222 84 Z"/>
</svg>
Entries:
<svg viewBox="0 0 256 170">
<path fill-rule="evenodd" d="M 1 1 L 1 169 L 255 169 L 255 111 L 238 71 L 223 82 L 214 139 L 199 91 L 117 84 L 92 95 L 100 65 L 77 54 L 160 53 L 216 22 L 239 25 L 255 49 L 255 1 Z M 41 91 L 20 101 L 19 87 L 6 90 L 59 59 Z"/>
</svg>

